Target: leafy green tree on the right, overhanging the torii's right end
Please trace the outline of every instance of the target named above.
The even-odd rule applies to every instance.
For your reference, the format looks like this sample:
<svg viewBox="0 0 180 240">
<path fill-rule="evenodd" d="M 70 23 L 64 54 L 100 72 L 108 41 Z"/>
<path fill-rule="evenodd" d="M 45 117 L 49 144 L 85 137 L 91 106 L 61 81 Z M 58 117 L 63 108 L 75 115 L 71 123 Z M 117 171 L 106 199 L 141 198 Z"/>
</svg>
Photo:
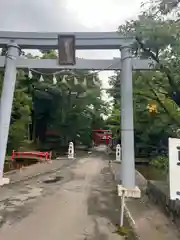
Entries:
<svg viewBox="0 0 180 240">
<path fill-rule="evenodd" d="M 135 144 L 153 151 L 167 150 L 168 137 L 177 136 L 180 128 L 180 15 L 179 2 L 153 0 L 142 4 L 135 20 L 119 26 L 119 32 L 136 38 L 133 57 L 151 58 L 156 71 L 133 73 Z M 109 80 L 114 98 L 112 115 L 108 119 L 115 132 L 120 121 L 119 72 Z"/>
</svg>

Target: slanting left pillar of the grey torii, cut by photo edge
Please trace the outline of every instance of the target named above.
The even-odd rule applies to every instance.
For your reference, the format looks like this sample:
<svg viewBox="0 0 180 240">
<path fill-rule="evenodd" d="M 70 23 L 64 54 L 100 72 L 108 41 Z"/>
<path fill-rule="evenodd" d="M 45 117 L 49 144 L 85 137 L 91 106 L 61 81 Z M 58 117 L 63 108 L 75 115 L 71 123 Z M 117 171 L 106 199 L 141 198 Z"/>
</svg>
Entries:
<svg viewBox="0 0 180 240">
<path fill-rule="evenodd" d="M 16 58 L 20 54 L 20 48 L 13 41 L 8 44 L 7 48 L 4 81 L 0 101 L 0 185 L 9 182 L 7 179 L 3 178 L 3 170 L 16 83 Z"/>
</svg>

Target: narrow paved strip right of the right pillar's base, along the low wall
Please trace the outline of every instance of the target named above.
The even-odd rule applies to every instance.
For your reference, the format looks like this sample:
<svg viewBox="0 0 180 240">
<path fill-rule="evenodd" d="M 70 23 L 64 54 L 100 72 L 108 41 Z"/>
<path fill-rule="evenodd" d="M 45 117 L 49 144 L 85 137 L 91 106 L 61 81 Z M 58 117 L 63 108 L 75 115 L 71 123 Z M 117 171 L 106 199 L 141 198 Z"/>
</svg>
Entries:
<svg viewBox="0 0 180 240">
<path fill-rule="evenodd" d="M 117 182 L 120 180 L 120 164 L 112 163 L 112 169 Z M 136 232 L 144 240 L 178 240 L 180 233 L 157 205 L 152 203 L 146 195 L 146 181 L 136 172 L 136 183 L 141 189 L 141 199 L 127 199 L 126 205 L 134 220 Z"/>
</svg>

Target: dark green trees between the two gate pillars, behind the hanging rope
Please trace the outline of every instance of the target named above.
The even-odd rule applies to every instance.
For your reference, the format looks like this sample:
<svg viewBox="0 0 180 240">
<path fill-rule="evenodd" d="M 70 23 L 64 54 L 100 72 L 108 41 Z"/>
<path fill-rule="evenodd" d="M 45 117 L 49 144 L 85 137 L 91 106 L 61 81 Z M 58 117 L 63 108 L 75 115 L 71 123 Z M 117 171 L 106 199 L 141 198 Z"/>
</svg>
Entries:
<svg viewBox="0 0 180 240">
<path fill-rule="evenodd" d="M 57 58 L 56 52 L 43 51 L 42 58 Z M 17 73 L 8 151 L 19 149 L 27 139 L 43 149 L 61 148 L 69 141 L 90 146 L 92 129 L 103 128 L 102 115 L 108 111 L 98 75 L 60 71 L 53 76 L 33 69 L 30 73 Z M 1 86 L 2 81 L 3 72 Z"/>
</svg>

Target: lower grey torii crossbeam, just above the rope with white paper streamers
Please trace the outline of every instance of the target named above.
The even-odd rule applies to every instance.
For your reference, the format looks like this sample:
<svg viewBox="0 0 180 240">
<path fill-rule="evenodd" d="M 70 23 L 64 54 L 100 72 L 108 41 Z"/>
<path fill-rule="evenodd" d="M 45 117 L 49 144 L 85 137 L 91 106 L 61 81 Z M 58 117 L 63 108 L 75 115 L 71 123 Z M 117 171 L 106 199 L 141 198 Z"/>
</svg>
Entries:
<svg viewBox="0 0 180 240">
<path fill-rule="evenodd" d="M 5 66 L 5 57 L 0 57 L 0 68 Z M 147 59 L 141 60 L 132 58 L 132 70 L 151 70 L 154 69 L 154 61 Z M 18 57 L 16 59 L 16 68 L 20 69 L 42 69 L 46 71 L 55 71 L 62 69 L 77 69 L 77 70 L 122 70 L 122 64 L 120 58 L 113 59 L 76 59 L 75 65 L 59 65 L 56 59 L 26 59 Z"/>
</svg>

